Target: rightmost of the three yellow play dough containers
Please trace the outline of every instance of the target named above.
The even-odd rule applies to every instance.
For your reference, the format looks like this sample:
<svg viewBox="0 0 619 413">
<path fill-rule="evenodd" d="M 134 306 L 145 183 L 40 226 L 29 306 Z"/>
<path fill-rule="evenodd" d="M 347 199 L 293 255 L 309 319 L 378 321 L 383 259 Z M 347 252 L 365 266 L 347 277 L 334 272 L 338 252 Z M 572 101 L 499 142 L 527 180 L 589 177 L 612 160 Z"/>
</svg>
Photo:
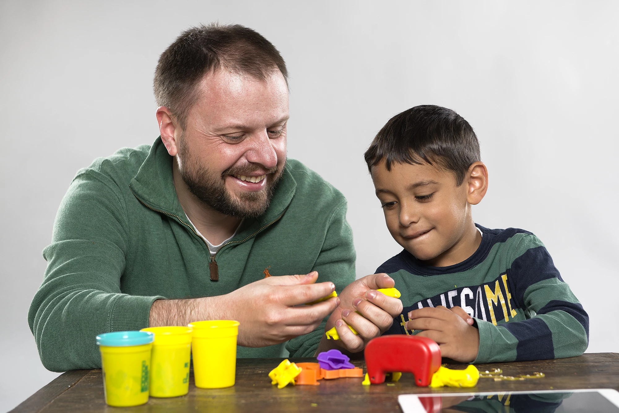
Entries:
<svg viewBox="0 0 619 413">
<path fill-rule="evenodd" d="M 238 321 L 212 320 L 189 324 L 193 329 L 193 364 L 196 387 L 234 386 Z"/>
</svg>

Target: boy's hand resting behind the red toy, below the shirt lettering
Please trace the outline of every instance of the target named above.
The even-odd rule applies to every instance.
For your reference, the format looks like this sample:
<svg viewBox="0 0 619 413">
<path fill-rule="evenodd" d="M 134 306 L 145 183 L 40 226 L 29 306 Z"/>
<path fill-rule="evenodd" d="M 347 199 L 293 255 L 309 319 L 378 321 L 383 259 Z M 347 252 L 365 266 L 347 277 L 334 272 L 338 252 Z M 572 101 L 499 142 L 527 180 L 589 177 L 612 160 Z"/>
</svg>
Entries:
<svg viewBox="0 0 619 413">
<path fill-rule="evenodd" d="M 409 313 L 407 330 L 423 330 L 418 336 L 433 339 L 441 347 L 441 356 L 470 363 L 479 350 L 479 331 L 473 318 L 462 307 L 448 309 L 424 307 Z"/>
</svg>

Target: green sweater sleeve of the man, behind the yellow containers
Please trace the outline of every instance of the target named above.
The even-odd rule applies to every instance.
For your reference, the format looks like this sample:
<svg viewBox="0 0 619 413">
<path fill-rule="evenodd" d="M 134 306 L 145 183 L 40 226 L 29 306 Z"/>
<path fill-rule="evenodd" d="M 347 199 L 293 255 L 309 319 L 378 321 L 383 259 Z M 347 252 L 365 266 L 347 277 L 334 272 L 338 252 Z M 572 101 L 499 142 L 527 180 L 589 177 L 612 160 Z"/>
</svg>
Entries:
<svg viewBox="0 0 619 413">
<path fill-rule="evenodd" d="M 118 185 L 86 169 L 71 183 L 58 210 L 43 283 L 28 324 L 41 362 L 54 372 L 100 368 L 95 336 L 139 330 L 150 306 L 163 297 L 122 294 L 129 224 Z"/>
</svg>

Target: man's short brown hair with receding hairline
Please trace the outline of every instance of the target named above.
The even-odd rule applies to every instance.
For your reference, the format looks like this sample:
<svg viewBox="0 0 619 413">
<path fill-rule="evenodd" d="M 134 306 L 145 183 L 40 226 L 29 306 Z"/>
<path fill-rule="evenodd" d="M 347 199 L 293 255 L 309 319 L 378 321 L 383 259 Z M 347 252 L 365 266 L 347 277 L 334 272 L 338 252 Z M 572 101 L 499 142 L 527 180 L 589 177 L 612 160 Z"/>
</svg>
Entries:
<svg viewBox="0 0 619 413">
<path fill-rule="evenodd" d="M 260 33 L 238 24 L 199 25 L 181 33 L 159 57 L 153 82 L 158 106 L 170 109 L 184 129 L 197 83 L 219 69 L 258 80 L 279 69 L 288 82 L 284 59 Z"/>
</svg>

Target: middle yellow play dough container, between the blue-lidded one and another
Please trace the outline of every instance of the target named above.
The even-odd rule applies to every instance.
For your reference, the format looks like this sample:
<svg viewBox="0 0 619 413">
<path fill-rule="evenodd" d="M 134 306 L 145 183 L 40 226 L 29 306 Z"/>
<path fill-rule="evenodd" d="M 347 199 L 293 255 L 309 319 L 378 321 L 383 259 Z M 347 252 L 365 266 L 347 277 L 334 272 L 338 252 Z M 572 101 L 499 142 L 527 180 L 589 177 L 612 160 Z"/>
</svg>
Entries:
<svg viewBox="0 0 619 413">
<path fill-rule="evenodd" d="M 176 397 L 187 394 L 189 362 L 191 362 L 191 328 L 149 327 L 140 331 L 155 334 L 150 358 L 150 395 Z"/>
</svg>

